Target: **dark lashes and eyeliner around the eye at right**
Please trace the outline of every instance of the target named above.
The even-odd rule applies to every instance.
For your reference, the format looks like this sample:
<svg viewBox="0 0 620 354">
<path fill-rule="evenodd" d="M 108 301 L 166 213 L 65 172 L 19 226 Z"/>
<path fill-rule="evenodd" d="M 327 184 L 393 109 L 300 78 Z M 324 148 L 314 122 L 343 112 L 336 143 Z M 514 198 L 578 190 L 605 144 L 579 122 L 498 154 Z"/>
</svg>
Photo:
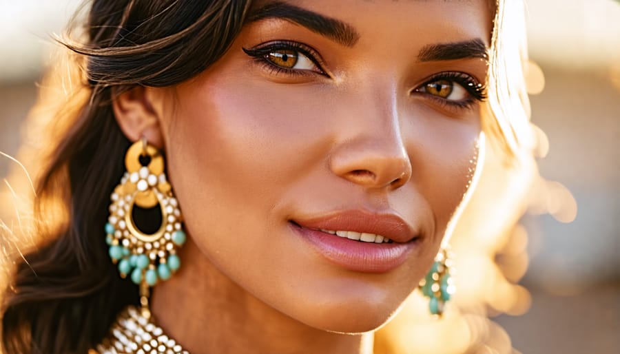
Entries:
<svg viewBox="0 0 620 354">
<path fill-rule="evenodd" d="M 426 94 L 426 92 L 418 91 L 420 90 L 420 87 L 424 87 L 430 83 L 435 83 L 437 81 L 449 81 L 451 83 L 456 83 L 466 90 L 469 97 L 464 100 L 454 101 L 448 100 L 440 96 L 435 96 L 433 94 Z M 423 94 L 424 96 L 437 101 L 441 105 L 464 109 L 471 108 L 475 103 L 486 100 L 486 85 L 478 83 L 478 81 L 474 79 L 473 76 L 465 74 L 464 72 L 440 72 L 439 74 L 435 74 L 431 76 L 428 80 L 424 81 L 424 83 L 416 87 L 413 92 Z"/>
</svg>

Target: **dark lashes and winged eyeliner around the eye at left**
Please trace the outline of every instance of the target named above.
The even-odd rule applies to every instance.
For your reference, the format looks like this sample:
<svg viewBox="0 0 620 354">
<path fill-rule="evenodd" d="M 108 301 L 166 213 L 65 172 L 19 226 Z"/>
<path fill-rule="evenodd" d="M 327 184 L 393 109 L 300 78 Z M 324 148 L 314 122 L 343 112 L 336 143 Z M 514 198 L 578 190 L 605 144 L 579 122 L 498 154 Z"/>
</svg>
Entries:
<svg viewBox="0 0 620 354">
<path fill-rule="evenodd" d="M 325 72 L 325 70 L 323 70 L 320 59 L 318 59 L 320 58 L 320 55 L 318 54 L 318 52 L 316 52 L 316 50 L 314 50 L 313 48 L 303 43 L 299 43 L 295 41 L 272 41 L 269 43 L 264 43 L 262 45 L 259 45 L 258 47 L 251 48 L 251 49 L 242 48 L 242 50 L 243 52 L 245 52 L 245 54 L 251 56 L 257 63 L 260 63 L 261 65 L 265 65 L 267 70 L 269 70 L 270 74 L 287 74 L 287 75 L 294 75 L 294 76 L 307 76 L 308 74 L 320 74 L 323 76 L 329 76 Z M 310 61 L 312 61 L 314 65 L 316 65 L 316 67 L 318 68 L 318 71 L 288 69 L 286 67 L 281 67 L 281 66 L 278 66 L 272 63 L 271 61 L 269 61 L 269 59 L 267 59 L 267 57 L 269 56 L 270 53 L 276 52 L 278 50 L 291 50 L 293 52 L 299 52 L 300 54 L 307 56 L 307 58 Z"/>
</svg>

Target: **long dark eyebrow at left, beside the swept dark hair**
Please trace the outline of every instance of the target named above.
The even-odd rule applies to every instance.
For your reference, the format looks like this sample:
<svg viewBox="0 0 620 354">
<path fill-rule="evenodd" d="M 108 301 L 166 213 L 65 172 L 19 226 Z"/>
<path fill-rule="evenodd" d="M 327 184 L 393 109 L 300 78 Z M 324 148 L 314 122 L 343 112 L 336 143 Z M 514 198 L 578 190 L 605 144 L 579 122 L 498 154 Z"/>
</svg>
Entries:
<svg viewBox="0 0 620 354">
<path fill-rule="evenodd" d="M 246 22 L 251 23 L 269 18 L 285 19 L 297 23 L 346 47 L 353 47 L 360 39 L 358 31 L 347 23 L 280 1 L 268 3 L 254 10 L 249 14 Z"/>
</svg>

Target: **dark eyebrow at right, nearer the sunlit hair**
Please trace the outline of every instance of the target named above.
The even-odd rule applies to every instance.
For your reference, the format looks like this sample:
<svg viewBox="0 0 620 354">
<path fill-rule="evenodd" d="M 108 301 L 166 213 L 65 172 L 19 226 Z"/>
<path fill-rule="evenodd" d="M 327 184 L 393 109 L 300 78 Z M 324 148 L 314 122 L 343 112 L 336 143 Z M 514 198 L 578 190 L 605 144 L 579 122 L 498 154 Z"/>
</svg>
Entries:
<svg viewBox="0 0 620 354">
<path fill-rule="evenodd" d="M 440 43 L 424 46 L 417 54 L 419 61 L 446 61 L 480 58 L 488 61 L 488 51 L 482 39 L 471 41 Z"/>
</svg>

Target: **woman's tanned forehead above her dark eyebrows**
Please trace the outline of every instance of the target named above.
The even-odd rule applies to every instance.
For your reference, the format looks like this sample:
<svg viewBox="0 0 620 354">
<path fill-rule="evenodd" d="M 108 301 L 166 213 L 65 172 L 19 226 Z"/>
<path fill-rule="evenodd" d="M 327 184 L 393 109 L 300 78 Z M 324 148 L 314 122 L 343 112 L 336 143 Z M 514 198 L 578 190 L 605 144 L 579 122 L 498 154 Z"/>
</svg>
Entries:
<svg viewBox="0 0 620 354">
<path fill-rule="evenodd" d="M 495 1 L 491 0 L 256 1 L 253 8 L 273 3 L 288 3 L 342 21 L 355 31 L 362 45 L 377 40 L 406 43 L 479 38 L 488 46 L 495 15 Z"/>
</svg>

